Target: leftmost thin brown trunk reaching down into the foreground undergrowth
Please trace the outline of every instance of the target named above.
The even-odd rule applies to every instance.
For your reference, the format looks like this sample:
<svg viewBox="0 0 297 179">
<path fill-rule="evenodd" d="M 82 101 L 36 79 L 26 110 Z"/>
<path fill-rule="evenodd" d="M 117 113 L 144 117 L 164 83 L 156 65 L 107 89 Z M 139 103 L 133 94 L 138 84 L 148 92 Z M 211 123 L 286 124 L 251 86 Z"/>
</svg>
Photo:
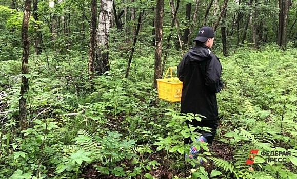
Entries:
<svg viewBox="0 0 297 179">
<path fill-rule="evenodd" d="M 25 1 L 24 6 L 24 16 L 22 23 L 22 40 L 23 40 L 23 55 L 22 55 L 22 74 L 29 73 L 29 52 L 30 52 L 30 41 L 28 37 L 28 26 L 30 20 L 30 11 L 31 11 L 31 0 Z M 22 76 L 22 84 L 21 84 L 21 98 L 19 99 L 19 123 L 21 126 L 21 131 L 27 129 L 27 115 L 26 115 L 26 99 L 24 98 L 25 93 L 29 89 L 29 80 L 25 76 Z"/>
</svg>

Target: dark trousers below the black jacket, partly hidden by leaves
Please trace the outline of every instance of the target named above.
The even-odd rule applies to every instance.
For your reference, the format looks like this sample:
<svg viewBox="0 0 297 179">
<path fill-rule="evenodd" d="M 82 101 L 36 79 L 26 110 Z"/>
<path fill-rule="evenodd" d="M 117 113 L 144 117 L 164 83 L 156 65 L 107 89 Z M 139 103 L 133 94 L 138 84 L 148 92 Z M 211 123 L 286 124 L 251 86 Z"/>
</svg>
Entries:
<svg viewBox="0 0 297 179">
<path fill-rule="evenodd" d="M 196 119 L 193 119 L 192 122 L 186 121 L 187 125 L 191 124 L 195 127 L 209 127 L 210 132 L 200 130 L 200 129 L 195 129 L 194 132 L 200 133 L 203 137 L 207 139 L 207 143 L 211 144 L 214 138 L 214 135 L 216 133 L 217 125 L 219 123 L 219 120 L 208 120 L 208 119 L 203 119 L 201 121 L 197 121 Z M 184 140 L 185 144 L 190 144 L 193 141 L 190 138 L 185 138 Z"/>
</svg>

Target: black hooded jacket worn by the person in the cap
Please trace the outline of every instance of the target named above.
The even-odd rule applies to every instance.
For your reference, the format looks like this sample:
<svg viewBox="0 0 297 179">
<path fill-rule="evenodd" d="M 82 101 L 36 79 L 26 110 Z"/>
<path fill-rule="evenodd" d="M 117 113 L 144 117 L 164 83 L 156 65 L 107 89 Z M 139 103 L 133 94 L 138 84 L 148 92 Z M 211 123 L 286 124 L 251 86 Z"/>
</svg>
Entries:
<svg viewBox="0 0 297 179">
<path fill-rule="evenodd" d="M 218 119 L 215 93 L 223 87 L 221 71 L 219 58 L 205 45 L 196 45 L 184 55 L 177 66 L 177 76 L 183 82 L 181 113 Z"/>
</svg>

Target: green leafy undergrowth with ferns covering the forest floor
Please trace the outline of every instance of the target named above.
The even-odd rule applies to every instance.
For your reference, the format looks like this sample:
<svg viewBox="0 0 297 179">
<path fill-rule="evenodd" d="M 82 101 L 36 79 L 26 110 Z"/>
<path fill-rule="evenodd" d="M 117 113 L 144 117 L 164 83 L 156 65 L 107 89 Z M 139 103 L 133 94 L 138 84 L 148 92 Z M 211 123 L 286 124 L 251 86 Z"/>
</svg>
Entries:
<svg viewBox="0 0 297 179">
<path fill-rule="evenodd" d="M 111 53 L 111 70 L 92 82 L 80 52 L 31 55 L 24 131 L 21 60 L 1 61 L 0 178 L 297 178 L 297 49 L 217 54 L 220 126 L 212 145 L 195 144 L 205 161 L 195 170 L 183 139 L 199 134 L 184 121 L 199 117 L 180 116 L 180 103 L 157 97 L 147 51 L 133 58 L 128 79 L 127 59 Z M 166 68 L 181 60 L 175 54 Z"/>
</svg>

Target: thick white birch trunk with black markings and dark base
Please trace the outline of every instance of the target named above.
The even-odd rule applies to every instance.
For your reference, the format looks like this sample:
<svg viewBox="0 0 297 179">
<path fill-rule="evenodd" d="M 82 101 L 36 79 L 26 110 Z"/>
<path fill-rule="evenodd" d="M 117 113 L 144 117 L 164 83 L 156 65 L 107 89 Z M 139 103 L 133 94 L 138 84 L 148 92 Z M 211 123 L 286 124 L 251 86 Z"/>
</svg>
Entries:
<svg viewBox="0 0 297 179">
<path fill-rule="evenodd" d="M 112 18 L 112 3 L 113 0 L 100 1 L 99 25 L 96 34 L 96 59 L 95 71 L 98 75 L 104 74 L 110 70 L 109 66 L 109 52 L 108 52 L 108 38 L 110 18 Z"/>
</svg>

